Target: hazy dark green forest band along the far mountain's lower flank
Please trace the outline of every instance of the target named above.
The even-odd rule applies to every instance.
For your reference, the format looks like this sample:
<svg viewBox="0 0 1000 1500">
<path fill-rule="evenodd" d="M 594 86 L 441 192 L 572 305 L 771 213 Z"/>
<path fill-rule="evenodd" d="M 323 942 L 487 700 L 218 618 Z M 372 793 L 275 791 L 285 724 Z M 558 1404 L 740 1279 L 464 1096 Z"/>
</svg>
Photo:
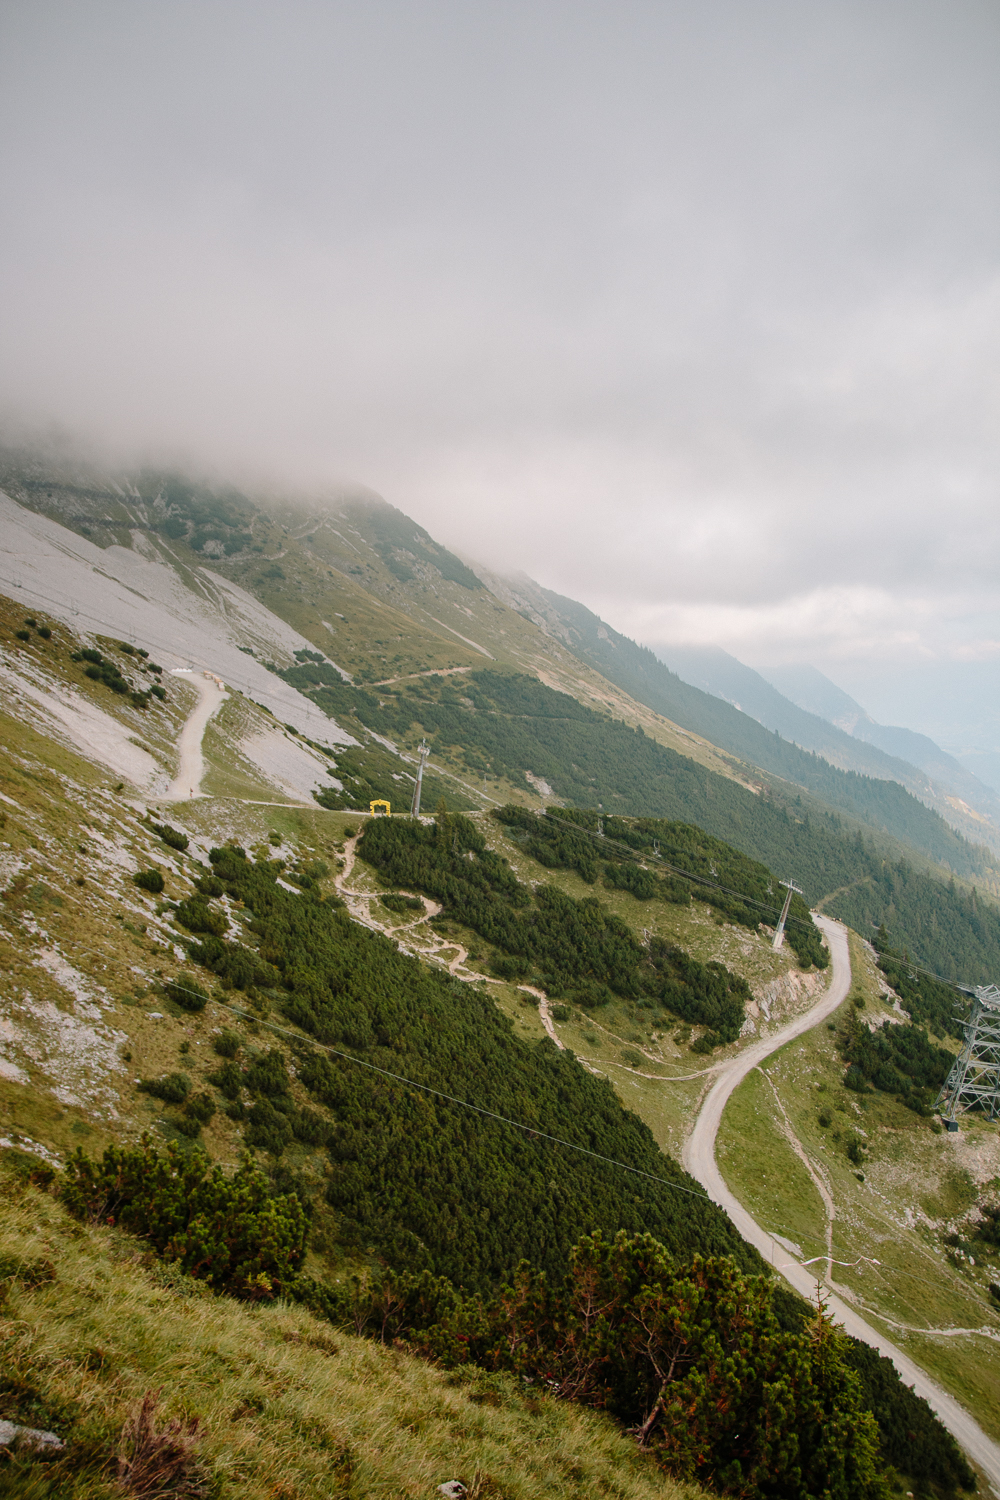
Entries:
<svg viewBox="0 0 1000 1500">
<path fill-rule="evenodd" d="M 810 904 L 823 900 L 862 934 L 885 924 L 897 946 L 945 978 L 988 982 L 1000 972 L 1000 910 L 973 891 L 916 868 L 898 844 L 880 846 L 835 813 L 810 814 L 792 792 L 781 796 L 769 786 L 754 794 L 535 678 L 484 670 L 463 676 L 460 688 L 426 678 L 376 696 L 343 684 L 322 663 L 282 675 L 358 732 L 367 724 L 403 742 L 423 732 L 438 752 L 460 750 L 469 774 L 489 766 L 523 783 L 529 770 L 576 807 L 693 824 L 795 879 Z M 889 786 L 975 862 L 976 850 L 936 813 L 894 783 L 871 784 Z M 333 794 L 330 806 L 345 802 Z"/>
</svg>

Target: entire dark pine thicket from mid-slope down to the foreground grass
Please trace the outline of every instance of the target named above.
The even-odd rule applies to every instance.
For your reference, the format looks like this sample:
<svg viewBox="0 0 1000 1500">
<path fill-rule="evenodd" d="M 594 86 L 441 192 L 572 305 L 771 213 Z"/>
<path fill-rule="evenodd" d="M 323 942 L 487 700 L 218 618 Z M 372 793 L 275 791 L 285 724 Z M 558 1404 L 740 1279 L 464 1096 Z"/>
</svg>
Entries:
<svg viewBox="0 0 1000 1500">
<path fill-rule="evenodd" d="M 432 850 L 441 838 L 451 858 L 463 822 L 412 826 Z M 345 1248 L 391 1269 L 337 1287 L 303 1278 L 310 1209 L 301 1192 L 274 1191 L 250 1161 L 226 1179 L 198 1148 L 162 1158 L 147 1142 L 111 1149 L 97 1164 L 76 1155 L 64 1179 L 75 1212 L 132 1228 L 241 1299 L 280 1293 L 342 1326 L 402 1334 L 441 1362 L 555 1380 L 561 1395 L 606 1407 L 624 1426 L 646 1425 L 666 1468 L 720 1492 L 885 1492 L 882 1466 L 892 1460 L 865 1414 L 874 1396 L 853 1342 L 822 1318 L 807 1326 L 808 1310 L 760 1280 L 756 1252 L 607 1083 L 549 1042 L 517 1040 L 487 996 L 400 954 L 318 890 L 277 885 L 279 861 L 225 848 L 211 850 L 211 867 L 252 912 L 259 951 L 208 933 L 192 942 L 192 958 L 249 987 L 250 1000 L 264 987 L 309 1036 L 397 1077 L 303 1038 L 292 1044 L 295 1071 L 321 1114 L 295 1106 L 282 1053 L 241 1060 L 238 1035 L 223 1032 L 210 1082 L 246 1119 L 249 1144 L 279 1156 L 292 1138 L 327 1142 Z M 600 936 L 600 912 L 588 906 L 586 916 Z M 613 957 L 618 936 L 598 951 Z M 168 1107 L 187 1112 L 189 1080 L 159 1082 L 160 1095 L 183 1094 Z M 240 1102 L 247 1094 L 249 1112 Z M 667 1346 L 676 1353 L 669 1374 Z M 924 1462 L 939 1492 L 972 1482 L 924 1404 L 900 1382 L 879 1389 L 892 1430 L 931 1424 Z"/>
</svg>

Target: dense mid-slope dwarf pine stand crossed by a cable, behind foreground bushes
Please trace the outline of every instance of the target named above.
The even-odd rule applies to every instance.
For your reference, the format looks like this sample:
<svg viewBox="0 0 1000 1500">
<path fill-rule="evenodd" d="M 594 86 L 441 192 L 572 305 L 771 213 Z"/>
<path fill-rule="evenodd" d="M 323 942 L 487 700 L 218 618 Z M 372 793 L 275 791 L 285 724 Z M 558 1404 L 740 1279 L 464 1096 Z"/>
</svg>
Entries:
<svg viewBox="0 0 1000 1500">
<path fill-rule="evenodd" d="M 277 864 L 225 848 L 213 852 L 213 870 L 253 912 L 259 957 L 205 934 L 195 960 L 229 984 L 270 980 L 291 1022 L 384 1070 L 309 1047 L 298 1060 L 300 1082 L 336 1120 L 328 1198 L 346 1244 L 471 1290 L 499 1281 L 522 1256 L 562 1266 L 594 1227 L 649 1230 L 679 1254 L 757 1263 L 610 1083 L 547 1041 L 516 1038 L 489 994 L 430 970 L 318 897 L 285 890 Z M 315 1122 L 291 1108 L 277 1062 L 241 1084 L 256 1095 L 252 1142 L 280 1150 L 297 1132 L 315 1138 Z M 223 1076 L 217 1086 L 225 1090 Z M 543 1138 L 552 1136 L 649 1176 Z"/>
</svg>

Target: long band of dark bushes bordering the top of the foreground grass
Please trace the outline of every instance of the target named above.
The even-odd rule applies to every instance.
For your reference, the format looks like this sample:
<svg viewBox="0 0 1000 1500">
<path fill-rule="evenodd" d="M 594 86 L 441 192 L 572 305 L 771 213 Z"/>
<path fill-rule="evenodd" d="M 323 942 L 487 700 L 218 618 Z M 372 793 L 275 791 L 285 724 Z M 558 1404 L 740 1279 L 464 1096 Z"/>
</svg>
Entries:
<svg viewBox="0 0 1000 1500">
<path fill-rule="evenodd" d="M 297 1274 L 309 1206 L 270 1191 L 249 1160 L 226 1179 L 198 1150 L 163 1158 L 144 1138 L 97 1164 L 78 1152 L 60 1194 L 78 1216 L 129 1228 L 216 1292 L 304 1302 L 345 1330 L 405 1338 L 447 1368 L 510 1372 L 606 1410 L 666 1470 L 715 1492 L 885 1500 L 892 1462 L 940 1497 L 975 1486 L 888 1360 L 732 1257 L 678 1260 L 651 1234 L 595 1233 L 558 1274 L 522 1262 L 486 1296 L 429 1272 L 331 1286 Z"/>
</svg>

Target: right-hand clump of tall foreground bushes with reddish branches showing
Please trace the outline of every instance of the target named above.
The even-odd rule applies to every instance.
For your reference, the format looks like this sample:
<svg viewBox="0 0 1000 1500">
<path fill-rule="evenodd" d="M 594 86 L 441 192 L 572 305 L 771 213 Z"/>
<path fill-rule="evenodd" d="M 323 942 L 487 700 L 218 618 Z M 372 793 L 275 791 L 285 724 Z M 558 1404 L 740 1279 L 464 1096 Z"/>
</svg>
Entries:
<svg viewBox="0 0 1000 1500">
<path fill-rule="evenodd" d="M 879 1426 L 822 1311 L 789 1330 L 765 1276 L 591 1234 L 558 1281 L 519 1266 L 487 1299 L 430 1276 L 357 1276 L 327 1312 L 607 1410 L 676 1478 L 742 1500 L 885 1500 Z"/>
</svg>

